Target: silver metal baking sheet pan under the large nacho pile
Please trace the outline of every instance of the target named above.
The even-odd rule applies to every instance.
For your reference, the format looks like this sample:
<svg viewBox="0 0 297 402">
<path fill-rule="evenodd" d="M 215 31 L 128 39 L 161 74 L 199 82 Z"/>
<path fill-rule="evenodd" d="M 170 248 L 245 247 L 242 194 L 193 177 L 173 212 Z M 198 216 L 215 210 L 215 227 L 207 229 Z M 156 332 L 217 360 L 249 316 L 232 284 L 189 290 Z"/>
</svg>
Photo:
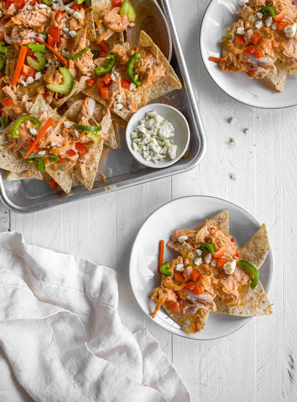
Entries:
<svg viewBox="0 0 297 402">
<path fill-rule="evenodd" d="M 98 173 L 103 173 L 106 176 L 106 181 L 103 182 L 97 178 L 91 191 L 78 183 L 74 183 L 71 192 L 65 194 L 62 190 L 50 189 L 49 185 L 42 180 L 7 181 L 8 172 L 0 169 L 0 199 L 4 205 L 16 213 L 32 213 L 186 172 L 202 160 L 206 152 L 206 139 L 194 90 L 168 0 L 160 0 L 160 6 L 171 30 L 173 42 L 171 65 L 179 76 L 183 87 L 159 98 L 159 102 L 176 107 L 188 120 L 191 139 L 186 158 L 182 158 L 168 168 L 146 168 L 133 159 L 126 146 L 125 130 L 115 125 L 119 148 L 116 150 L 105 148 L 98 167 Z M 156 101 L 153 102 L 156 103 Z"/>
</svg>

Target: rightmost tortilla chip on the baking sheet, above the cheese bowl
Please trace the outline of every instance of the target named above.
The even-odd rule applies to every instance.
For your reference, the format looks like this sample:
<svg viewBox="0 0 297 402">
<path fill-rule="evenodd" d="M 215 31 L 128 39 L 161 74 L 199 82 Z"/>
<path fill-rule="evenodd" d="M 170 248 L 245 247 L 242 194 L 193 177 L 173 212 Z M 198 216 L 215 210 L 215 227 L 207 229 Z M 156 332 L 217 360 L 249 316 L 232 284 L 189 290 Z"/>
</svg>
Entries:
<svg viewBox="0 0 297 402">
<path fill-rule="evenodd" d="M 161 78 L 161 80 L 155 82 L 151 86 L 151 93 L 148 98 L 148 102 L 153 99 L 157 99 L 162 95 L 167 94 L 167 92 L 171 92 L 174 89 L 180 89 L 181 83 L 179 78 L 175 74 L 173 68 L 170 66 L 168 60 L 163 55 L 159 47 L 152 41 L 152 39 L 144 32 L 140 31 L 139 36 L 139 47 L 149 47 L 150 51 L 157 56 L 158 59 L 163 62 L 165 70 L 166 70 L 166 77 Z"/>
</svg>

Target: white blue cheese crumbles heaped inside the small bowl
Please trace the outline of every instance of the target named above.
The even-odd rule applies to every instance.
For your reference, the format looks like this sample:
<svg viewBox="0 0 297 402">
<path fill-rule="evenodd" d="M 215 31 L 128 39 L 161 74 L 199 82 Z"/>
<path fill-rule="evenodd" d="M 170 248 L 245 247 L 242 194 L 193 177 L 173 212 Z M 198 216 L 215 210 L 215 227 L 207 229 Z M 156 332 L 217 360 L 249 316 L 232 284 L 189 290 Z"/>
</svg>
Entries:
<svg viewBox="0 0 297 402">
<path fill-rule="evenodd" d="M 146 161 L 157 163 L 167 156 L 176 157 L 177 145 L 173 144 L 174 127 L 156 111 L 147 112 L 131 133 L 132 148 Z"/>
</svg>

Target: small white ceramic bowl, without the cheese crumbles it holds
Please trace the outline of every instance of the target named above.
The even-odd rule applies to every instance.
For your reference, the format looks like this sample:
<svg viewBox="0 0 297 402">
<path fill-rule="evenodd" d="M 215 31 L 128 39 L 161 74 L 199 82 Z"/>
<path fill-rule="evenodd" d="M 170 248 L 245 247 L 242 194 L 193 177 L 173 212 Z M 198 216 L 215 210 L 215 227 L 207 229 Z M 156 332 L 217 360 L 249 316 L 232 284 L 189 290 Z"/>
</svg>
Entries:
<svg viewBox="0 0 297 402">
<path fill-rule="evenodd" d="M 139 154 L 139 152 L 134 151 L 132 148 L 131 133 L 136 129 L 139 121 L 144 119 L 146 112 L 152 111 L 156 111 L 159 113 L 159 115 L 164 117 L 165 120 L 170 121 L 175 129 L 174 137 L 170 138 L 173 139 L 173 144 L 177 145 L 177 152 L 174 159 L 171 159 L 169 155 L 167 155 L 166 158 L 158 160 L 158 163 L 155 163 L 152 160 L 146 161 L 143 156 Z M 167 166 L 177 162 L 186 152 L 189 141 L 190 128 L 186 118 L 174 107 L 164 105 L 163 103 L 152 103 L 139 109 L 138 112 L 130 118 L 126 128 L 126 142 L 133 158 L 135 158 L 142 165 L 150 168 L 166 168 Z"/>
</svg>

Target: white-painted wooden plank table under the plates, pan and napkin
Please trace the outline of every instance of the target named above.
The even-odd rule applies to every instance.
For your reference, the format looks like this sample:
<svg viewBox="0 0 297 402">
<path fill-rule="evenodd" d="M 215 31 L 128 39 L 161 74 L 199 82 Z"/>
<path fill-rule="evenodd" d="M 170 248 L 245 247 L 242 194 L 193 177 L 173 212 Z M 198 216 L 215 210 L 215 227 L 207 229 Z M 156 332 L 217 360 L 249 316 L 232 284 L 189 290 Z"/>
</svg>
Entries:
<svg viewBox="0 0 297 402">
<path fill-rule="evenodd" d="M 297 401 L 297 107 L 261 110 L 225 95 L 208 76 L 199 30 L 208 0 L 171 0 L 208 150 L 191 172 L 32 215 L 0 206 L 0 231 L 22 232 L 28 244 L 77 254 L 118 272 L 119 312 L 135 331 L 148 330 L 175 365 L 193 402 Z M 229 124 L 230 117 L 236 123 Z M 244 134 L 245 128 L 250 132 Z M 230 147 L 234 137 L 237 145 Z M 236 173 L 237 180 L 230 174 Z M 149 214 L 184 195 L 213 195 L 266 222 L 274 261 L 273 315 L 235 334 L 194 341 L 172 336 L 138 307 L 128 279 L 132 242 Z M 181 401 L 182 402 L 182 401 Z"/>
</svg>

